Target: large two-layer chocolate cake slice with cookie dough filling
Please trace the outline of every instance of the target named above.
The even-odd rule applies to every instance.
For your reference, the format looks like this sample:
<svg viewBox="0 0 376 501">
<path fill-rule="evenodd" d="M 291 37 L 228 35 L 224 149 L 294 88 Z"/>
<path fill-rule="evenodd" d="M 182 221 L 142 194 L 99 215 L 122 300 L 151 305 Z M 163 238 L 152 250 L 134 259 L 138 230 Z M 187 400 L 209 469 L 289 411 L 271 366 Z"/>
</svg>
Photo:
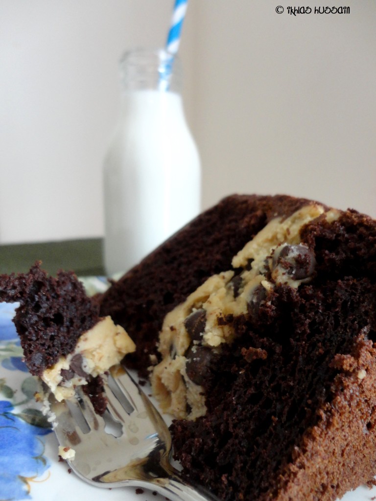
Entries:
<svg viewBox="0 0 376 501">
<path fill-rule="evenodd" d="M 112 285 L 101 313 L 226 501 L 328 501 L 376 474 L 376 222 L 231 196 Z M 159 348 L 159 350 L 157 350 Z"/>
</svg>

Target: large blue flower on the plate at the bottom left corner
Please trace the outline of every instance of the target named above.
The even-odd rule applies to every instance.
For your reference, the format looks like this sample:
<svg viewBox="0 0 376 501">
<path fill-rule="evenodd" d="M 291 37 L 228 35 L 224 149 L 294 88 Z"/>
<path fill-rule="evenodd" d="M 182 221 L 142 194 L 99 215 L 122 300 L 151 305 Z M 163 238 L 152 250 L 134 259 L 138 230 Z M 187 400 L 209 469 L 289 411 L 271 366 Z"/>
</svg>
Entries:
<svg viewBox="0 0 376 501">
<path fill-rule="evenodd" d="M 12 411 L 10 402 L 0 400 L 0 499 L 10 501 L 30 499 L 29 482 L 49 468 L 40 436 L 51 431 Z"/>
</svg>

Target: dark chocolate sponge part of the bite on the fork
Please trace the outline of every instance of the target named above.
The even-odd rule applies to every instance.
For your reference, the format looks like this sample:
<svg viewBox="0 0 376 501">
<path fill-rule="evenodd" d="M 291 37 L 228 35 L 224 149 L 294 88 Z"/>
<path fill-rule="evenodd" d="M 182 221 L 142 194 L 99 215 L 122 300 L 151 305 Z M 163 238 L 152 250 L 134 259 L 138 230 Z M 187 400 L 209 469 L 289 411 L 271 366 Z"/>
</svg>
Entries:
<svg viewBox="0 0 376 501">
<path fill-rule="evenodd" d="M 71 353 L 99 318 L 98 305 L 73 272 L 61 271 L 55 278 L 40 265 L 25 274 L 0 275 L 0 301 L 20 303 L 14 322 L 26 365 L 36 376 Z"/>
</svg>

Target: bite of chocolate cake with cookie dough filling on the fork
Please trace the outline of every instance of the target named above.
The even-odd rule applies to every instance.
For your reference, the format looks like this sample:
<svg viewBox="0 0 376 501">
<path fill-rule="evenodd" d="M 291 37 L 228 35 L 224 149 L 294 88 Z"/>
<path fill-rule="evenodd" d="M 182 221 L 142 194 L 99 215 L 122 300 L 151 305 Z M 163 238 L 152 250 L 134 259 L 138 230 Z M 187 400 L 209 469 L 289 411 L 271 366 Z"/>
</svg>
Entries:
<svg viewBox="0 0 376 501">
<path fill-rule="evenodd" d="M 101 374 L 133 351 L 134 343 L 110 317 L 99 316 L 77 277 L 49 277 L 37 263 L 27 274 L 0 275 L 0 301 L 20 303 L 14 323 L 31 374 L 59 401 L 84 385 L 102 413 Z"/>
</svg>

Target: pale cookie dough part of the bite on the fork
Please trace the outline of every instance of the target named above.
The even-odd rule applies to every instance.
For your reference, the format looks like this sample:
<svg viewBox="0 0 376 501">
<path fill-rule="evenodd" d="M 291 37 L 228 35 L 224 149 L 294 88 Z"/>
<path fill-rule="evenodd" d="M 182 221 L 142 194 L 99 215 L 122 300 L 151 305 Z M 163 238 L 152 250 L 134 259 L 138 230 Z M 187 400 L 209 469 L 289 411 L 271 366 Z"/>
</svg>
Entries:
<svg viewBox="0 0 376 501">
<path fill-rule="evenodd" d="M 41 379 L 60 402 L 73 396 L 77 386 L 86 385 L 89 375 L 103 374 L 134 349 L 135 344 L 125 330 L 105 317 L 82 334 L 75 350 L 60 357 L 42 373 Z"/>
</svg>

